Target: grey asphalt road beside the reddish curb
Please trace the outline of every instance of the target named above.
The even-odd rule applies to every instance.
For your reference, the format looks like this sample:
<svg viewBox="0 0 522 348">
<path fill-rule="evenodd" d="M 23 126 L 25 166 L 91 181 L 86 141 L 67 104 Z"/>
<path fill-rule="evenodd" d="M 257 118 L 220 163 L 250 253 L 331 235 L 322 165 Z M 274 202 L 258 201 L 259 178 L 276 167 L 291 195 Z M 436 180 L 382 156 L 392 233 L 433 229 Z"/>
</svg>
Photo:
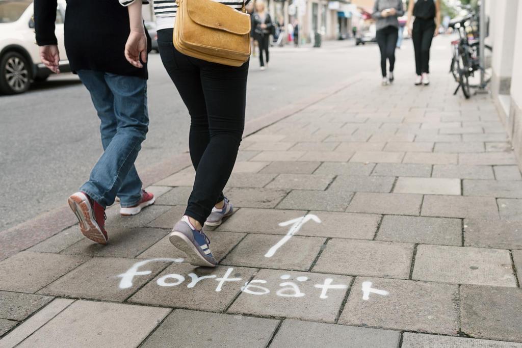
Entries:
<svg viewBox="0 0 522 348">
<path fill-rule="evenodd" d="M 401 59 L 412 64 L 409 41 L 397 56 L 398 65 Z M 247 121 L 361 71 L 375 71 L 380 82 L 375 44 L 355 47 L 349 40 L 325 42 L 321 49 L 278 47 L 270 57 L 266 71 L 252 59 Z M 185 106 L 159 55 L 151 54 L 149 62 L 150 127 L 138 171 L 188 147 Z M 65 204 L 102 153 L 98 127 L 89 94 L 72 74 L 51 77 L 22 95 L 0 96 L 0 230 Z"/>
</svg>

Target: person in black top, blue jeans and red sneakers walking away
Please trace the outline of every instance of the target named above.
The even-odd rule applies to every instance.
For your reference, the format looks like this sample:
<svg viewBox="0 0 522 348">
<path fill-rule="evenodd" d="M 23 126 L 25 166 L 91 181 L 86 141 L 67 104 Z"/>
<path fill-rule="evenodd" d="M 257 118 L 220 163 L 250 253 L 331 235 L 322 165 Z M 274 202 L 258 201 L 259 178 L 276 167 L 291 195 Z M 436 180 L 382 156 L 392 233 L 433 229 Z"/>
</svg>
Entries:
<svg viewBox="0 0 522 348">
<path fill-rule="evenodd" d="M 59 73 L 54 34 L 56 0 L 34 0 L 34 23 L 40 57 Z M 69 1 L 65 19 L 65 49 L 70 67 L 89 90 L 100 118 L 103 154 L 89 180 L 69 197 L 69 206 L 87 238 L 106 244 L 105 208 L 120 197 L 122 215 L 137 214 L 154 203 L 142 189 L 134 161 L 148 131 L 147 49 L 150 37 L 143 20 L 130 26 L 129 16 L 141 7 L 122 8 L 111 1 Z M 141 18 L 141 17 L 140 17 Z M 96 34 L 94 34 L 96 33 Z M 103 40 L 99 38 L 103 37 Z M 125 42 L 138 48 L 138 63 L 129 64 Z M 81 155 L 81 147 L 78 147 Z"/>
</svg>

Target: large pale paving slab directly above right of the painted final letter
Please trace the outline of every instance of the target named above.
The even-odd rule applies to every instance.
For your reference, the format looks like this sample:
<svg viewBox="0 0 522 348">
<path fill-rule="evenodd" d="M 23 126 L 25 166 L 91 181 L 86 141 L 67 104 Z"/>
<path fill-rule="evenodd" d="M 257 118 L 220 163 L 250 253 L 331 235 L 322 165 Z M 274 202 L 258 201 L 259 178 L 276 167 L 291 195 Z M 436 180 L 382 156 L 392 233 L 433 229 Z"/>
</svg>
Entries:
<svg viewBox="0 0 522 348">
<path fill-rule="evenodd" d="M 508 250 L 419 245 L 412 279 L 517 286 Z"/>
</svg>

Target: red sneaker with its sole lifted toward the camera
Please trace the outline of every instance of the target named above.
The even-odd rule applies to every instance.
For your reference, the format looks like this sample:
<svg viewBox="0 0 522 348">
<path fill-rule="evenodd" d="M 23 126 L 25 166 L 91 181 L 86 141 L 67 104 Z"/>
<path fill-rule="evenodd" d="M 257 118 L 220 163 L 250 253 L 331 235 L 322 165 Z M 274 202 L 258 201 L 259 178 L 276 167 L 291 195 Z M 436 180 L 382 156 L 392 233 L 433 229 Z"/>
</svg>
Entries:
<svg viewBox="0 0 522 348">
<path fill-rule="evenodd" d="M 78 218 L 81 234 L 93 242 L 107 244 L 109 237 L 105 231 L 105 209 L 83 192 L 70 196 L 68 203 Z"/>
</svg>

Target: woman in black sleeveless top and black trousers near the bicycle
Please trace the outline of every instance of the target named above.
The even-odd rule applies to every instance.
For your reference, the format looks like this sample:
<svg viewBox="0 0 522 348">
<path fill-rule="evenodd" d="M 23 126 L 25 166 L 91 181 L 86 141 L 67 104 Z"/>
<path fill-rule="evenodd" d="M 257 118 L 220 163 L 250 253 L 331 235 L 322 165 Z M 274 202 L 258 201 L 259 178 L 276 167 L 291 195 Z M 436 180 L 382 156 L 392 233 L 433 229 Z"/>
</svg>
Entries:
<svg viewBox="0 0 522 348">
<path fill-rule="evenodd" d="M 413 28 L 411 17 L 415 16 Z M 438 35 L 441 25 L 441 0 L 410 0 L 408 6 L 408 32 L 413 40 L 415 50 L 415 66 L 417 71 L 416 85 L 430 84 L 430 47 L 434 36 Z"/>
</svg>

